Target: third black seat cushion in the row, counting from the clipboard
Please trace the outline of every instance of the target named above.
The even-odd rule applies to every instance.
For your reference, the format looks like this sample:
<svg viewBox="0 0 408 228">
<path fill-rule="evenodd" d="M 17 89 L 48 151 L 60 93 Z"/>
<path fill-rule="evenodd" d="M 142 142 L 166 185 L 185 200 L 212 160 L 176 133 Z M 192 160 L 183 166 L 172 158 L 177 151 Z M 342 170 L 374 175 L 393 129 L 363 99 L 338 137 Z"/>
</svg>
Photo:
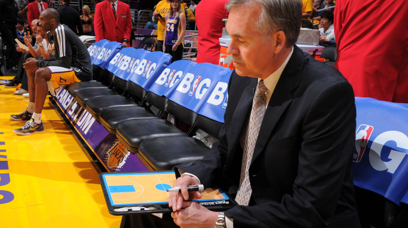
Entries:
<svg viewBox="0 0 408 228">
<path fill-rule="evenodd" d="M 116 134 L 116 128 L 122 121 L 147 118 L 157 117 L 140 106 L 109 107 L 99 114 L 100 123 L 112 134 Z"/>
</svg>

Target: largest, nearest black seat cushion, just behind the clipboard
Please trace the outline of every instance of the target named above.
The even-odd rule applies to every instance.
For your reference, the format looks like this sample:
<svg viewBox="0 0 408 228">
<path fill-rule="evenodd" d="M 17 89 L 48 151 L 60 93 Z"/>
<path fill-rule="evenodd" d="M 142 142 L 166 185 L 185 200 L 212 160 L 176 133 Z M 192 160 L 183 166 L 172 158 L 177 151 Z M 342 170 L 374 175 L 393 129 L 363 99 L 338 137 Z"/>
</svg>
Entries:
<svg viewBox="0 0 408 228">
<path fill-rule="evenodd" d="M 193 137 L 156 137 L 140 144 L 138 157 L 150 170 L 171 170 L 175 165 L 201 159 L 209 151 Z"/>
</svg>

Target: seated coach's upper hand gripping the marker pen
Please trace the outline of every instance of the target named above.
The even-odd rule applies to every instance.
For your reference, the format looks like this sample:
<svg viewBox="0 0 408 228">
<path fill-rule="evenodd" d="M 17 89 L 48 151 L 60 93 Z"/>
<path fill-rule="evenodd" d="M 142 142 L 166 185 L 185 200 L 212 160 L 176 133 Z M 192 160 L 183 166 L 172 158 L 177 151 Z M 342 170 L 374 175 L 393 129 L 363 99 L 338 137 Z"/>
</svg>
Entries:
<svg viewBox="0 0 408 228">
<path fill-rule="evenodd" d="M 169 207 L 173 208 L 173 211 L 178 211 L 182 209 L 183 201 L 192 200 L 195 198 L 201 198 L 200 191 L 187 191 L 189 185 L 200 184 L 197 178 L 185 175 L 183 177 L 177 178 L 174 183 L 174 187 L 180 187 L 182 192 L 170 192 L 169 195 Z"/>
</svg>

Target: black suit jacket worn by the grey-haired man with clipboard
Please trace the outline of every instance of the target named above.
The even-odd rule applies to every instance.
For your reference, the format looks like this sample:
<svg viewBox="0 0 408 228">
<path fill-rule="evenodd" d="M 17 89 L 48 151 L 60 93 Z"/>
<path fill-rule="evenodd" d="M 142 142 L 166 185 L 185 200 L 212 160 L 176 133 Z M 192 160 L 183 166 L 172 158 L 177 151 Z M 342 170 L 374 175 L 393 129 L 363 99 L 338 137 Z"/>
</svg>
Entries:
<svg viewBox="0 0 408 228">
<path fill-rule="evenodd" d="M 235 194 L 257 78 L 233 74 L 225 124 L 209 154 L 176 166 Z M 355 105 L 335 68 L 297 46 L 265 112 L 249 168 L 250 207 L 225 212 L 237 227 L 359 227 L 351 175 Z M 176 172 L 176 175 L 178 172 Z"/>
</svg>

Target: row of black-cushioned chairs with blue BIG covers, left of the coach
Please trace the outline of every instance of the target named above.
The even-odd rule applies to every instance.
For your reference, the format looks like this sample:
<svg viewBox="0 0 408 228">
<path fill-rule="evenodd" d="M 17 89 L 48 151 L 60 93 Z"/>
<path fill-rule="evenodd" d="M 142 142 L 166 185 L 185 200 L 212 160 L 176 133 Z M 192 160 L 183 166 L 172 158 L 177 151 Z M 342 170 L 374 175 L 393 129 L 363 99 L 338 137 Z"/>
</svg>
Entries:
<svg viewBox="0 0 408 228">
<path fill-rule="evenodd" d="M 138 152 L 148 168 L 169 170 L 209 152 L 189 136 L 199 128 L 217 137 L 230 69 L 185 60 L 170 64 L 167 53 L 121 48 L 106 40 L 88 51 L 94 72 L 112 81 L 109 87 L 97 81 L 73 83 L 69 93 L 131 152 Z M 187 133 L 161 119 L 165 113 L 191 126 Z"/>
</svg>

